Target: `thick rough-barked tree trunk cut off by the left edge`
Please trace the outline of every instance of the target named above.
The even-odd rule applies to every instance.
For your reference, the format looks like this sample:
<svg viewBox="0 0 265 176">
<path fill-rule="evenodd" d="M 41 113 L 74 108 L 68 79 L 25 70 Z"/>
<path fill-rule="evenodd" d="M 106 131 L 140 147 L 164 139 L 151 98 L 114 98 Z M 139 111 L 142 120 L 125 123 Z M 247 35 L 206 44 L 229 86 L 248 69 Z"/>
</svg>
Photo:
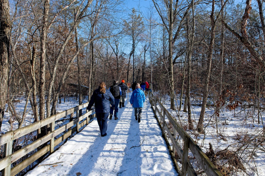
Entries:
<svg viewBox="0 0 265 176">
<path fill-rule="evenodd" d="M 9 1 L 0 0 L 0 130 L 4 118 L 9 69 L 9 35 L 11 30 Z"/>
</svg>

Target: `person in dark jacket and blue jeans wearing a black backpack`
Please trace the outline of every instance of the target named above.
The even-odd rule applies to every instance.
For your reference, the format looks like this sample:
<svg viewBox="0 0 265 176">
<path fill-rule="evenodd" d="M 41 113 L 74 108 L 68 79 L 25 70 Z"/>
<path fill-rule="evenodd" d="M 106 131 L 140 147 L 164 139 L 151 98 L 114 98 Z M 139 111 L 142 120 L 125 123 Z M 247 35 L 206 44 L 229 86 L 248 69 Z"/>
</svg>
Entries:
<svg viewBox="0 0 265 176">
<path fill-rule="evenodd" d="M 113 116 L 113 110 L 114 110 L 114 120 L 118 120 L 118 104 L 121 98 L 121 87 L 118 86 L 118 81 L 114 80 L 113 85 L 110 86 L 109 91 L 114 96 L 114 104 L 111 105 L 110 111 L 109 111 L 109 120 L 112 119 Z"/>
</svg>

